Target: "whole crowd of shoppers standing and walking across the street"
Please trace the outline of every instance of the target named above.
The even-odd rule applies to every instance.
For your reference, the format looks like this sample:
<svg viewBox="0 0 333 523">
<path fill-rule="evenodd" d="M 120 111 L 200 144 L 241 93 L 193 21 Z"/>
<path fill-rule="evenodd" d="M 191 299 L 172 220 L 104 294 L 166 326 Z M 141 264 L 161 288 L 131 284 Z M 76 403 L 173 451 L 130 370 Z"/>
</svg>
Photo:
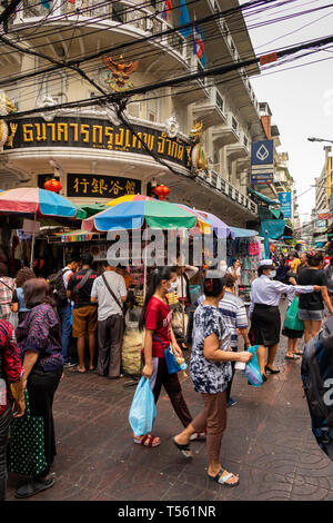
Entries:
<svg viewBox="0 0 333 523">
<path fill-rule="evenodd" d="M 9 278 L 6 266 L 0 263 L 0 393 L 2 382 L 7 387 L 6 402 L 0 402 L 0 500 L 6 496 L 6 447 L 12 417 L 27 417 L 24 409 L 29 405 L 30 415 L 42 420 L 44 465 L 16 493 L 17 497 L 29 497 L 54 484 L 51 467 L 57 448 L 52 406 L 63 368 L 71 367 L 69 372 L 79 374 L 94 371 L 110 379 L 121 376 L 128 296 L 125 279 L 108 262 L 103 273 L 97 274 L 92 262 L 91 255 L 83 255 L 81 259 L 73 256 L 53 279 L 50 278 L 52 285 L 43 278 L 36 278 L 33 270 L 27 267 L 18 272 L 16 280 Z M 279 304 L 282 295 L 289 298 L 290 305 L 294 296 L 300 295 L 299 317 L 304 322 L 305 342 L 319 332 L 324 307 L 333 314 L 327 292 L 332 270 L 327 267 L 324 272 L 323 265 L 323 256 L 314 251 L 300 258 L 290 256 L 287 260 L 281 257 L 280 272 L 275 270 L 272 259 L 262 260 L 251 288 L 250 333 L 244 303 L 236 295 L 241 274 L 239 260 L 234 260 L 224 277 L 204 279 L 204 293 L 198 300 L 191 333 L 191 378 L 194 391 L 203 401 L 203 409 L 195 417 L 186 405 L 178 374 L 168 372 L 165 351 L 171 348 L 176 358 L 182 358 L 183 353 L 172 329 L 172 312 L 167 295 L 176 289 L 188 312 L 191 302 L 189 279 L 199 269 L 191 266 L 181 268 L 178 263 L 175 267 L 152 270 L 140 319 L 140 328 L 145 332 L 142 375 L 150 379 L 155 403 L 164 386 L 183 426 L 183 431 L 172 438 L 175 447 L 191 458 L 191 442 L 206 440 L 210 480 L 230 487 L 240 482 L 236 474 L 220 463 L 226 408 L 236 404 L 231 397 L 235 363 L 250 362 L 252 354 L 248 348 L 259 345 L 256 355 L 263 381 L 268 379 L 266 373 L 280 372 L 274 367 L 274 359 L 280 342 Z M 329 290 L 333 293 L 333 285 L 329 285 Z M 9 323 L 12 314 L 18 315 L 16 337 Z M 299 354 L 295 342 L 302 333 L 283 329 L 283 334 L 289 338 L 286 357 L 293 359 L 294 354 Z M 72 337 L 77 338 L 75 366 L 69 357 Z M 239 351 L 241 339 L 244 347 Z M 13 432 L 12 440 L 14 437 Z M 160 437 L 153 434 L 134 434 L 133 442 L 145 447 L 161 444 Z M 24 445 L 21 452 L 27 454 Z"/>
</svg>

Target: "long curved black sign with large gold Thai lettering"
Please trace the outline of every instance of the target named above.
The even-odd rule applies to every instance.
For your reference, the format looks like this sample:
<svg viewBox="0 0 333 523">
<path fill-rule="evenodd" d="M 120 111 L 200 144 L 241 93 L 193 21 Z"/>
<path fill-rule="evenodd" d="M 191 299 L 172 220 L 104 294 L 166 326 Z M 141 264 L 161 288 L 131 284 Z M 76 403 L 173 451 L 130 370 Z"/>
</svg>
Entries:
<svg viewBox="0 0 333 523">
<path fill-rule="evenodd" d="M 190 167 L 191 146 L 186 141 L 178 137 L 169 138 L 162 130 L 134 125 L 132 127 L 135 134 L 124 126 L 113 126 L 109 120 L 100 118 L 57 117 L 47 122 L 33 117 L 17 120 L 12 144 L 13 149 L 81 147 L 147 156 L 149 152 L 144 144 L 160 158 Z"/>
</svg>

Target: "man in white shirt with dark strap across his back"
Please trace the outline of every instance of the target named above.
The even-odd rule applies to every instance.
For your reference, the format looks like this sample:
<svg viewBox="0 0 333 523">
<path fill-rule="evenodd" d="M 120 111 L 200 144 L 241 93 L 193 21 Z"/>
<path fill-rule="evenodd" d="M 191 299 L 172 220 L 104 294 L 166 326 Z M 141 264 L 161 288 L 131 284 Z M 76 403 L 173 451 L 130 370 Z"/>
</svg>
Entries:
<svg viewBox="0 0 333 523">
<path fill-rule="evenodd" d="M 127 295 L 124 278 L 115 273 L 115 267 L 105 262 L 104 274 L 93 283 L 91 302 L 99 304 L 97 372 L 110 379 L 120 377 L 123 303 Z"/>
</svg>

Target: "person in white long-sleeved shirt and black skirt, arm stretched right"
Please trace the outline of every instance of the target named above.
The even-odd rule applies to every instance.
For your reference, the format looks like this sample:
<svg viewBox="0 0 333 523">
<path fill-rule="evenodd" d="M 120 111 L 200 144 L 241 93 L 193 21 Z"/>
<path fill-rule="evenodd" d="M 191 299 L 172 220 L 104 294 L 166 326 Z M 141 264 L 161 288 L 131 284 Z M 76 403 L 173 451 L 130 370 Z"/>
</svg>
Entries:
<svg viewBox="0 0 333 523">
<path fill-rule="evenodd" d="M 251 305 L 249 315 L 253 345 L 260 345 L 256 356 L 263 381 L 266 381 L 266 372 L 280 373 L 273 367 L 280 342 L 281 317 L 280 298 L 282 294 L 294 296 L 295 294 L 320 293 L 319 285 L 285 285 L 273 278 L 276 275 L 272 259 L 263 259 L 258 269 L 258 278 L 251 286 Z M 265 348 L 269 348 L 268 363 L 265 365 Z"/>
</svg>

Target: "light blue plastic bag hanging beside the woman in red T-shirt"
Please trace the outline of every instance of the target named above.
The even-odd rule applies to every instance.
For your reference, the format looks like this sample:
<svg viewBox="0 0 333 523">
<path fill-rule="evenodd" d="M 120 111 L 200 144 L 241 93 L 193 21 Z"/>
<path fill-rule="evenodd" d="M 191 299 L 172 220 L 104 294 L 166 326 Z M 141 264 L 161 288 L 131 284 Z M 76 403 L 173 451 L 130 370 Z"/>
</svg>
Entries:
<svg viewBox="0 0 333 523">
<path fill-rule="evenodd" d="M 129 422 L 135 436 L 150 434 L 157 417 L 157 405 L 150 381 L 141 377 L 130 408 Z"/>
</svg>

